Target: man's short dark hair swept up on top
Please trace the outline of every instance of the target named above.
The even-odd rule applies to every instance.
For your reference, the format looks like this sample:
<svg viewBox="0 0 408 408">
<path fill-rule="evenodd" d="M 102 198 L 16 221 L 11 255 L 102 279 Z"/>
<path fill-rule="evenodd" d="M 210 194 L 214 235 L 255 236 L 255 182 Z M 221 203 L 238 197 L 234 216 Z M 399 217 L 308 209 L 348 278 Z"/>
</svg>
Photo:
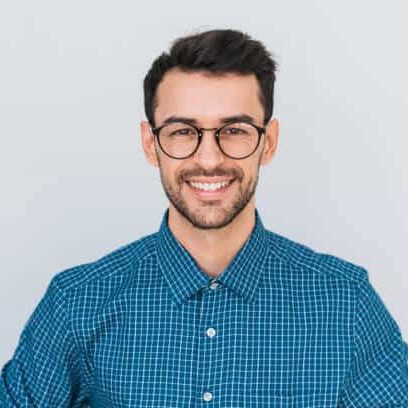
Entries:
<svg viewBox="0 0 408 408">
<path fill-rule="evenodd" d="M 254 74 L 260 87 L 264 124 L 272 117 L 273 92 L 277 63 L 265 46 L 237 30 L 209 30 L 176 39 L 169 53 L 153 61 L 143 82 L 144 106 L 148 121 L 154 127 L 156 92 L 164 74 L 172 68 L 185 72 Z"/>
</svg>

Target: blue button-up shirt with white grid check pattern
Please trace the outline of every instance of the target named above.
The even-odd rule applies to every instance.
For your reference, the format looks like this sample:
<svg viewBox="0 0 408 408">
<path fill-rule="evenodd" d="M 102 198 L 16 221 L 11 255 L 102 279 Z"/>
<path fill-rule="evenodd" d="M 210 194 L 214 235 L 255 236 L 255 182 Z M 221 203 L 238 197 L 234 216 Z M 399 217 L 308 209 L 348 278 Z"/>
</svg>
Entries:
<svg viewBox="0 0 408 408">
<path fill-rule="evenodd" d="M 57 274 L 8 407 L 408 407 L 408 346 L 364 268 L 256 224 L 212 279 L 168 228 Z"/>
</svg>

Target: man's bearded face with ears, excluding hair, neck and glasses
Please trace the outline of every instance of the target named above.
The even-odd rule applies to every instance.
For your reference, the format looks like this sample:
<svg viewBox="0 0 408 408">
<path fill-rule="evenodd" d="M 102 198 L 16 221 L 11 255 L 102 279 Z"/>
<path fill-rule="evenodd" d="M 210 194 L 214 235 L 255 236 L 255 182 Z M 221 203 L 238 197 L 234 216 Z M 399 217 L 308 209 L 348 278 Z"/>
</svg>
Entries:
<svg viewBox="0 0 408 408">
<path fill-rule="evenodd" d="M 193 119 L 197 127 L 216 128 L 222 126 L 223 119 L 238 115 L 247 115 L 255 125 L 263 127 L 264 111 L 254 75 L 214 76 L 174 69 L 165 74 L 156 95 L 156 127 L 170 117 L 179 117 Z M 270 150 L 276 147 L 277 122 L 270 127 L 276 128 L 275 136 L 267 131 L 254 154 L 242 160 L 225 156 L 213 131 L 204 131 L 198 150 L 183 160 L 165 155 L 157 140 L 153 152 L 153 134 L 147 122 L 142 123 L 142 137 L 149 161 L 160 169 L 170 205 L 196 228 L 217 229 L 231 223 L 249 203 L 253 205 L 259 166 L 270 160 Z M 267 151 L 263 157 L 262 152 L 268 147 L 269 155 Z M 212 192 L 191 184 L 223 181 L 228 181 L 228 186 Z"/>
</svg>

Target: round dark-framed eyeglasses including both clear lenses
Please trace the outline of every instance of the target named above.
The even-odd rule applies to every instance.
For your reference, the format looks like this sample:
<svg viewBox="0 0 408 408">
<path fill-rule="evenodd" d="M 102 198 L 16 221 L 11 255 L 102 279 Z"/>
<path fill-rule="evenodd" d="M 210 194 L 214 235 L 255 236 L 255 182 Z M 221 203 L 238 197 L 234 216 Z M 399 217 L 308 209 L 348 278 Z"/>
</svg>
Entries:
<svg viewBox="0 0 408 408">
<path fill-rule="evenodd" d="M 173 122 L 152 128 L 163 153 L 173 159 L 187 159 L 200 146 L 203 131 L 212 130 L 225 156 L 241 160 L 251 156 L 259 146 L 265 128 L 252 123 L 229 123 L 220 128 L 198 128 L 186 122 Z"/>
</svg>

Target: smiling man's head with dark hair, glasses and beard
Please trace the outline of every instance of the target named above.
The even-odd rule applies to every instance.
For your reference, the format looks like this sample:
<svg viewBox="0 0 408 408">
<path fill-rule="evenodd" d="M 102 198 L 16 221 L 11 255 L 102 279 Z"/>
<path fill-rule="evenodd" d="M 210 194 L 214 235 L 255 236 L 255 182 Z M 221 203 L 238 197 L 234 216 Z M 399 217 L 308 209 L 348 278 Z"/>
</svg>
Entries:
<svg viewBox="0 0 408 408">
<path fill-rule="evenodd" d="M 260 42 L 239 31 L 213 30 L 177 40 L 146 75 L 148 122 L 141 124 L 143 148 L 150 163 L 160 169 L 170 205 L 197 228 L 222 228 L 249 204 L 254 206 L 259 166 L 270 161 L 277 144 L 278 122 L 270 120 L 275 69 L 275 62 Z M 172 138 L 166 136 L 167 130 L 155 130 L 175 121 L 182 122 L 182 127 L 171 133 Z M 232 125 L 218 134 L 220 145 L 214 131 L 202 131 L 194 154 L 185 159 L 168 154 L 165 137 L 174 143 L 176 135 L 180 146 L 180 140 L 198 136 L 186 124 L 220 128 L 230 122 L 238 122 L 238 127 L 239 123 L 249 123 L 250 138 L 244 140 L 244 131 Z M 232 139 L 238 137 L 249 154 L 239 159 L 225 155 L 220 147 L 227 143 L 233 146 Z M 218 193 L 195 188 L 217 186 L 191 184 L 231 180 L 232 184 Z"/>
</svg>

